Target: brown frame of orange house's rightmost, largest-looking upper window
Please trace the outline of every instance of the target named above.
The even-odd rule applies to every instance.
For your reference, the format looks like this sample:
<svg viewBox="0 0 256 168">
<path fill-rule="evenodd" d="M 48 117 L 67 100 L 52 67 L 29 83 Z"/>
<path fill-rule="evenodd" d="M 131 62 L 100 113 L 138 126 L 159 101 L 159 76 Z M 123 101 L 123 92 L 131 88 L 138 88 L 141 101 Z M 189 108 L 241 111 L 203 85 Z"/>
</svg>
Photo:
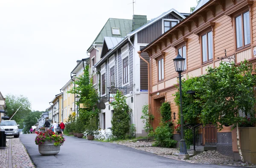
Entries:
<svg viewBox="0 0 256 168">
<path fill-rule="evenodd" d="M 249 13 L 249 28 L 250 28 L 250 43 L 249 44 L 247 44 L 247 45 L 245 45 L 244 44 L 244 14 L 245 13 Z M 239 16 L 241 16 L 241 26 L 242 26 L 242 34 L 241 34 L 241 36 L 242 36 L 242 46 L 241 47 L 237 47 L 237 28 L 236 28 L 236 18 L 237 17 L 239 17 Z M 244 9 L 243 11 L 240 11 L 239 13 L 237 13 L 237 14 L 234 14 L 233 15 L 233 25 L 234 25 L 234 42 L 235 42 L 235 46 L 236 46 L 236 51 L 237 50 L 242 50 L 242 49 L 244 49 L 244 48 L 247 48 L 247 47 L 249 47 L 251 44 L 252 44 L 252 26 L 251 26 L 251 16 L 250 16 L 250 10 L 248 9 L 248 8 L 246 8 L 246 9 Z"/>
</svg>

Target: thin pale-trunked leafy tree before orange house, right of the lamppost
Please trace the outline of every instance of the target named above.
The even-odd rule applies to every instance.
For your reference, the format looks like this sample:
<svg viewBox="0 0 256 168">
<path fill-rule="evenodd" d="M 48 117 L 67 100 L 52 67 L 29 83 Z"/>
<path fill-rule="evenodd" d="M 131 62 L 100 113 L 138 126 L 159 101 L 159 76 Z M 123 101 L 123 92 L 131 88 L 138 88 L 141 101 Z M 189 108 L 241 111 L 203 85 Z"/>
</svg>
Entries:
<svg viewBox="0 0 256 168">
<path fill-rule="evenodd" d="M 204 123 L 220 123 L 222 125 L 234 124 L 236 126 L 237 148 L 242 162 L 239 143 L 239 122 L 243 117 L 239 110 L 245 115 L 254 116 L 254 104 L 256 99 L 253 95 L 253 86 L 256 77 L 252 75 L 252 64 L 246 60 L 236 66 L 235 63 L 221 63 L 218 68 L 209 68 L 207 75 L 201 78 L 201 87 L 205 94 L 201 96 L 205 100 L 201 120 Z"/>
</svg>

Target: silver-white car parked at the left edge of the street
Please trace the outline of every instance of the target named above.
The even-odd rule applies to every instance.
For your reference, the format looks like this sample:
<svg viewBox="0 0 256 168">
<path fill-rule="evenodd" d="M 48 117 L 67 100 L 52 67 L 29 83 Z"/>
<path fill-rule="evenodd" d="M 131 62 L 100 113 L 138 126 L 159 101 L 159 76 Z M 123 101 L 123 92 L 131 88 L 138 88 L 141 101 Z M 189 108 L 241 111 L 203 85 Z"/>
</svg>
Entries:
<svg viewBox="0 0 256 168">
<path fill-rule="evenodd" d="M 14 136 L 17 138 L 20 136 L 18 126 L 20 125 L 17 125 L 15 120 L 3 120 L 0 123 L 0 131 L 4 131 L 6 136 Z"/>
</svg>

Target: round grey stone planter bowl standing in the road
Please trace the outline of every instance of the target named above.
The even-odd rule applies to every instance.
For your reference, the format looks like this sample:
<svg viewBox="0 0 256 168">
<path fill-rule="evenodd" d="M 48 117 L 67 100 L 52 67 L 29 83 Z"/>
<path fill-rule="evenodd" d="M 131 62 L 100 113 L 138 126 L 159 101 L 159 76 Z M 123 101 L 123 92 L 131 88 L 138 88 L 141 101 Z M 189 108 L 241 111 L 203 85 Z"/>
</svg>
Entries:
<svg viewBox="0 0 256 168">
<path fill-rule="evenodd" d="M 38 151 L 42 155 L 55 155 L 60 152 L 61 146 L 55 146 L 54 141 L 45 141 L 44 144 L 38 145 Z"/>
</svg>

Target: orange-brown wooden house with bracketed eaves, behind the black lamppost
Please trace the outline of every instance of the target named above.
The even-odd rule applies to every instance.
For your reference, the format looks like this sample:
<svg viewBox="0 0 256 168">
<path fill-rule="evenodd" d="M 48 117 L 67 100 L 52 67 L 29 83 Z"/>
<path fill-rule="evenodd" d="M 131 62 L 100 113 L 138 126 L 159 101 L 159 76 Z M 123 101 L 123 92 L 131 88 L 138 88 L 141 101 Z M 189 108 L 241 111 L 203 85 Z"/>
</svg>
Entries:
<svg viewBox="0 0 256 168">
<path fill-rule="evenodd" d="M 205 0 L 204 0 L 205 2 Z M 201 76 L 207 67 L 218 67 L 221 57 L 234 58 L 236 63 L 249 60 L 256 65 L 256 1 L 253 0 L 208 0 L 196 8 L 191 15 L 172 29 L 155 39 L 138 53 L 146 52 L 149 62 L 149 104 L 156 120 L 163 101 L 171 102 L 172 118 L 177 120 L 177 106 L 173 94 L 177 91 L 177 72 L 173 59 L 179 52 L 186 58 L 183 78 Z M 254 52 L 253 52 L 254 51 Z M 233 156 L 231 127 L 215 133 L 211 140 L 216 142 L 217 150 Z M 212 134 L 204 131 L 203 137 Z M 218 137 L 218 139 L 217 139 Z M 205 143 L 202 145 L 206 145 Z"/>
</svg>

